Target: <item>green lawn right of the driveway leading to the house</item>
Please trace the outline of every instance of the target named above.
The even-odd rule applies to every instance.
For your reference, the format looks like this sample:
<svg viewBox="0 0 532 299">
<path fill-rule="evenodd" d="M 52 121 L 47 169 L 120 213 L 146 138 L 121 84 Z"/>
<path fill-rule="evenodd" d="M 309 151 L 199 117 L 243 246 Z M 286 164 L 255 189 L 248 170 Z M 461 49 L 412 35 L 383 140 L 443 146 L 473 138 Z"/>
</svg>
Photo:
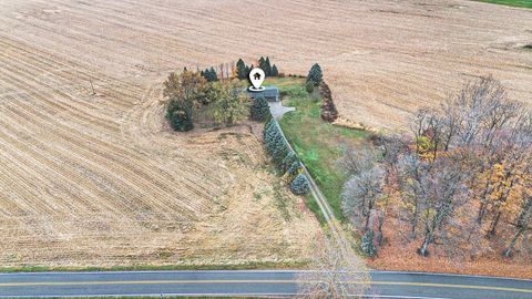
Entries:
<svg viewBox="0 0 532 299">
<path fill-rule="evenodd" d="M 347 177 L 338 159 L 347 145 L 366 144 L 369 133 L 324 122 L 319 114 L 321 99 L 305 91 L 304 79 L 285 78 L 267 83 L 279 86 L 282 94 L 285 94 L 284 105 L 296 107 L 295 112 L 285 114 L 280 126 L 329 202 L 335 216 L 344 220 L 340 194 Z M 313 212 L 319 210 L 314 200 L 307 199 L 307 205 Z"/>
</svg>

